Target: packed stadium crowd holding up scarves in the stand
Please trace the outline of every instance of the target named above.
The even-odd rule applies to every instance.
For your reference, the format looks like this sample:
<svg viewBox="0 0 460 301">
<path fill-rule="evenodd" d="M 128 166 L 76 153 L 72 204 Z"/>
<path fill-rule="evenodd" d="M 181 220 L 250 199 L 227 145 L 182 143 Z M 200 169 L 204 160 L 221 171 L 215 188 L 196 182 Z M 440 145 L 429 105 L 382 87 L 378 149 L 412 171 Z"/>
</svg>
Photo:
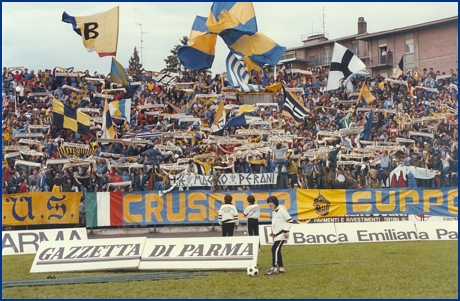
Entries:
<svg viewBox="0 0 460 301">
<path fill-rule="evenodd" d="M 285 93 L 278 89 L 273 103 L 255 105 L 244 113 L 249 130 L 229 126 L 219 137 L 211 130 L 217 101 L 228 106 L 227 122 L 244 104 L 244 94 L 234 93 L 223 75 L 189 71 L 166 84 L 161 73 L 128 71 L 131 85 L 123 91 L 109 76 L 88 71 L 65 76 L 66 72 L 3 68 L 4 194 L 457 183 L 457 70 L 414 68 L 398 78 L 367 75 L 331 91 L 326 90 L 327 70 L 283 69 L 276 76 L 253 72 L 250 83 L 263 87 L 283 83 L 310 114 L 296 122 L 283 109 Z M 375 100 L 362 99 L 355 107 L 362 85 Z M 101 94 L 110 88 L 109 102 L 129 98 L 132 104 L 130 120 L 113 119 L 116 140 L 100 138 L 105 103 Z M 89 134 L 53 125 L 53 100 L 71 105 L 75 89 L 83 95 L 75 109 L 91 116 Z M 395 181 L 392 172 L 401 166 L 432 176 L 405 172 L 404 176 L 398 173 Z M 170 176 L 180 173 L 276 173 L 278 178 L 276 185 L 172 186 Z"/>
</svg>

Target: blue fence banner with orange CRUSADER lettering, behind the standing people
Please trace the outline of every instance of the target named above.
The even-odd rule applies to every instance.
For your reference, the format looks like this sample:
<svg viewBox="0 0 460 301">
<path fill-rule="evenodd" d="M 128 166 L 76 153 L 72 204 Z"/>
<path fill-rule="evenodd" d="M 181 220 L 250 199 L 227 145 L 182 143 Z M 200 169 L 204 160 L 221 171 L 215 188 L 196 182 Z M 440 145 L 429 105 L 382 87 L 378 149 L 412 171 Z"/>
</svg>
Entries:
<svg viewBox="0 0 460 301">
<path fill-rule="evenodd" d="M 151 192 L 128 192 L 123 194 L 123 225 L 172 225 L 172 224 L 217 224 L 219 209 L 226 193 L 202 191 L 174 191 L 159 196 Z M 276 196 L 294 219 L 297 219 L 295 190 L 231 191 L 232 204 L 239 212 L 240 221 L 246 221 L 244 208 L 247 198 L 253 195 L 260 208 L 260 221 L 270 221 L 271 210 L 267 204 L 269 196 Z"/>
</svg>

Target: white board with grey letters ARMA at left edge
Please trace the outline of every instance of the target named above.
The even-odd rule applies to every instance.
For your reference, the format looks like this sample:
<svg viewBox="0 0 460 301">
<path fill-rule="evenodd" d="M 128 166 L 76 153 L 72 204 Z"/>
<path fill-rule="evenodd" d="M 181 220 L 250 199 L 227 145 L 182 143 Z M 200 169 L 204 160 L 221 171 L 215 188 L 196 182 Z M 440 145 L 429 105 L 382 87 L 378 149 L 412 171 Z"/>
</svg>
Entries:
<svg viewBox="0 0 460 301">
<path fill-rule="evenodd" d="M 2 231 L 2 256 L 35 254 L 42 242 L 87 239 L 86 228 Z"/>
</svg>

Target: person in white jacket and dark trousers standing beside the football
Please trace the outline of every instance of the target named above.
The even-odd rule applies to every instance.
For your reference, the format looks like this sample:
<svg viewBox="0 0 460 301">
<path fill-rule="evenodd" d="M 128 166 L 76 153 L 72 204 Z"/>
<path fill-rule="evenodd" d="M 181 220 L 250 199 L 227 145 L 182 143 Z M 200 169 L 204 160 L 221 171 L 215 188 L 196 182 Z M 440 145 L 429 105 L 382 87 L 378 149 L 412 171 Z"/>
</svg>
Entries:
<svg viewBox="0 0 460 301">
<path fill-rule="evenodd" d="M 265 275 L 284 273 L 283 257 L 281 247 L 289 238 L 289 229 L 292 226 L 292 217 L 284 206 L 280 206 L 279 200 L 275 196 L 267 199 L 268 206 L 272 209 L 272 268 Z M 278 264 L 278 270 L 276 265 Z"/>
</svg>

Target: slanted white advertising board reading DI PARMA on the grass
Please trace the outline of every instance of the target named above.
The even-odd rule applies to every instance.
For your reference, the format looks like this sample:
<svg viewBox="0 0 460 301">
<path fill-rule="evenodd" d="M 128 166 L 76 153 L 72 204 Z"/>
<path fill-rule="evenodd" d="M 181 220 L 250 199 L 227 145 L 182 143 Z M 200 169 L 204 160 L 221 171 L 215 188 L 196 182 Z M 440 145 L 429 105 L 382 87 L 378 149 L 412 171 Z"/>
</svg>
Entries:
<svg viewBox="0 0 460 301">
<path fill-rule="evenodd" d="M 258 245 L 257 236 L 147 239 L 139 270 L 246 269 Z"/>
</svg>

